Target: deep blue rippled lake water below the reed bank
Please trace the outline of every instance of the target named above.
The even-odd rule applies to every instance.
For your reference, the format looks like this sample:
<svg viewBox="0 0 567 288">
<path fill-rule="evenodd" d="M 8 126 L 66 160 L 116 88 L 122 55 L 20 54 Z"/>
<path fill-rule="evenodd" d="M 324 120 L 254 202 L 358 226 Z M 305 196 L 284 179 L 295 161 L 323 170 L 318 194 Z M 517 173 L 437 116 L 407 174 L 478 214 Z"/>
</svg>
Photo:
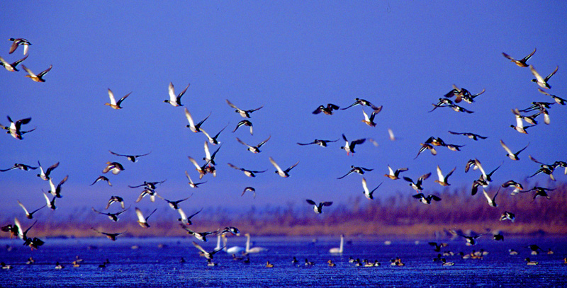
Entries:
<svg viewBox="0 0 567 288">
<path fill-rule="evenodd" d="M 245 237 L 230 237 L 228 246 L 245 246 Z M 232 260 L 227 253 L 214 257 L 218 266 L 209 267 L 191 241 L 194 238 L 106 238 L 46 239 L 39 250 L 21 246 L 19 239 L 1 239 L 0 260 L 13 266 L 2 270 L 0 287 L 567 287 L 567 239 L 564 237 L 507 238 L 496 242 L 488 236 L 476 246 L 466 246 L 462 239 L 443 241 L 442 251 L 471 253 L 473 249 L 489 252 L 481 260 L 447 256 L 453 266 L 442 266 L 432 259 L 437 255 L 428 241 L 385 238 L 348 238 L 342 255 L 332 255 L 330 248 L 339 239 L 308 237 L 254 237 L 253 246 L 268 248 L 265 253 L 249 255 L 249 264 Z M 206 250 L 216 239 L 202 243 Z M 544 249 L 530 255 L 528 245 Z M 133 248 L 137 246 L 137 248 Z M 9 248 L 10 247 L 10 248 Z M 508 249 L 519 255 L 510 255 Z M 551 248 L 554 254 L 547 254 Z M 84 259 L 73 267 L 76 256 Z M 296 257 L 299 263 L 293 264 Z M 29 257 L 35 264 L 26 265 Z M 391 266 L 399 257 L 403 267 Z M 539 265 L 526 265 L 529 257 Z M 184 258 L 185 263 L 181 263 Z M 315 265 L 306 266 L 305 258 Z M 349 258 L 378 260 L 380 267 L 357 267 Z M 99 267 L 106 259 L 110 264 Z M 326 262 L 332 260 L 335 267 Z M 65 267 L 55 270 L 59 261 Z M 266 268 L 266 261 L 274 264 Z"/>
</svg>

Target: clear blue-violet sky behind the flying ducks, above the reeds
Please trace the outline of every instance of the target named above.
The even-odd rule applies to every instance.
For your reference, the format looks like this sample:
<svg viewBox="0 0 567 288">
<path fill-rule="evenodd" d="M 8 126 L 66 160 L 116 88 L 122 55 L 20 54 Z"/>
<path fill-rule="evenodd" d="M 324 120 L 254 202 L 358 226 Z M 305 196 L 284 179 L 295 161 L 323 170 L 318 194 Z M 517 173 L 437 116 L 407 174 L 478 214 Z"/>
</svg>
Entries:
<svg viewBox="0 0 567 288">
<path fill-rule="evenodd" d="M 468 159 L 479 159 L 489 171 L 503 163 L 490 187 L 496 189 L 510 179 L 525 183 L 537 171 L 528 155 L 546 163 L 567 161 L 566 107 L 553 105 L 551 124 L 541 122 L 529 134 L 510 128 L 511 109 L 553 100 L 537 91 L 528 68 L 502 54 L 522 58 L 537 48 L 528 63 L 543 76 L 558 65 L 549 92 L 567 98 L 566 1 L 2 1 L 0 7 L 11 15 L 0 22 L 0 56 L 8 62 L 23 57 L 22 48 L 8 54 L 8 39 L 26 38 L 32 45 L 23 64 L 35 73 L 53 65 L 45 83 L 25 78 L 23 69 L 0 69 L 0 123 L 9 124 L 6 115 L 32 117 L 24 129 L 37 127 L 21 141 L 0 137 L 0 168 L 34 166 L 38 160 L 46 168 L 60 161 L 54 182 L 69 175 L 57 200 L 61 210 L 101 209 L 111 195 L 133 203 L 141 189 L 128 185 L 165 179 L 160 195 L 177 200 L 193 193 L 182 204 L 187 209 L 287 202 L 308 209 L 306 198 L 346 203 L 362 195 L 360 175 L 337 180 L 351 165 L 374 168 L 365 178 L 371 188 L 383 182 L 376 197 L 396 191 L 410 197 L 408 183 L 383 176 L 388 164 L 408 167 L 403 175 L 414 179 L 432 172 L 424 186 L 434 192 L 441 189 L 433 182 L 437 165 L 445 173 L 456 167 L 451 188 L 468 188 L 479 175 L 464 173 Z M 187 156 L 201 159 L 206 137 L 185 127 L 184 108 L 163 103 L 169 82 L 176 93 L 191 83 L 182 103 L 196 121 L 211 113 L 202 126 L 207 132 L 228 125 L 219 137 L 217 177 L 206 175 L 208 182 L 198 189 L 187 185 L 184 171 L 198 180 Z M 453 84 L 472 93 L 486 89 L 476 103 L 460 103 L 475 113 L 449 108 L 428 113 Z M 104 105 L 108 88 L 117 98 L 132 92 L 122 110 Z M 354 98 L 383 105 L 376 127 L 361 122 L 361 106 L 331 116 L 312 114 L 319 105 L 347 107 Z M 253 136 L 247 127 L 232 133 L 243 118 L 225 99 L 243 109 L 264 105 L 252 113 Z M 488 139 L 475 142 L 448 130 Z M 347 156 L 339 149 L 343 133 L 348 139 L 372 138 L 378 146 L 367 141 Z M 270 135 L 259 154 L 235 139 L 258 144 Z M 426 151 L 414 160 L 430 136 L 466 146 L 438 148 L 437 156 Z M 296 144 L 313 139 L 340 140 L 327 148 Z M 520 161 L 511 161 L 500 139 L 514 151 L 529 146 Z M 109 149 L 151 154 L 130 163 Z M 281 178 L 269 156 L 282 168 L 299 164 L 291 177 Z M 125 171 L 107 175 L 112 187 L 90 186 L 107 161 L 122 163 Z M 247 178 L 227 163 L 268 172 Z M 555 172 L 558 180 L 566 180 L 562 172 Z M 3 211 L 21 212 L 18 199 L 30 209 L 45 203 L 41 190 L 49 184 L 35 174 L 0 173 Z M 554 187 L 547 179 L 534 177 Z M 256 188 L 256 199 L 240 196 L 246 186 Z M 144 205 L 164 202 L 145 199 Z"/>
</svg>

